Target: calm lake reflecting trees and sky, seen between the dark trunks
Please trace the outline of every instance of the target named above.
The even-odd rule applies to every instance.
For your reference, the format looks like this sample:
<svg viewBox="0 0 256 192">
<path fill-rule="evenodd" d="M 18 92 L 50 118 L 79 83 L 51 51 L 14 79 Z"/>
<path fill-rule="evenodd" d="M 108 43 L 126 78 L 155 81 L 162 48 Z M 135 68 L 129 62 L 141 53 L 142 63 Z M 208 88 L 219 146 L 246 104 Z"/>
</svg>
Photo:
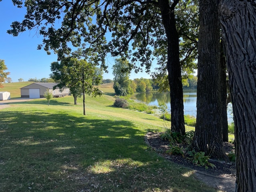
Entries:
<svg viewBox="0 0 256 192">
<path fill-rule="evenodd" d="M 134 99 L 138 102 L 144 102 L 148 105 L 158 106 L 158 100 L 164 101 L 168 107 L 168 112 L 171 111 L 170 92 L 149 92 L 139 93 L 134 95 Z M 196 117 L 196 90 L 183 90 L 184 114 Z M 228 122 L 233 122 L 232 105 L 228 105 Z"/>
</svg>

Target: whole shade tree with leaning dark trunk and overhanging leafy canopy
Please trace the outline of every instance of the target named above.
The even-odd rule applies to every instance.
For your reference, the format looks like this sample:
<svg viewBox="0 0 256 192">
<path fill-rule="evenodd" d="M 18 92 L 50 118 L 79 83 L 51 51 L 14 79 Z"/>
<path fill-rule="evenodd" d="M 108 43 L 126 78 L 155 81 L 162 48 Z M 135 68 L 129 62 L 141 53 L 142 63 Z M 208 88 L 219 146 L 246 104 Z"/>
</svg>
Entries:
<svg viewBox="0 0 256 192">
<path fill-rule="evenodd" d="M 22 0 L 12 0 L 18 7 Z M 54 50 L 59 60 L 67 54 L 84 57 L 99 63 L 106 70 L 106 53 L 128 58 L 135 71 L 146 67 L 150 72 L 152 48 L 163 50 L 168 79 L 171 87 L 171 116 L 173 131 L 185 133 L 183 94 L 179 52 L 179 34 L 176 30 L 175 8 L 179 0 L 59 0 L 26 1 L 27 14 L 24 22 L 13 22 L 8 33 L 40 28 L 44 36 L 44 50 Z M 186 2 L 192 2 L 190 0 Z M 183 2 L 181 2 L 183 3 Z M 54 28 L 63 19 L 60 28 Z M 187 23 L 184 23 L 187 25 Z M 56 25 L 58 26 L 58 25 Z M 112 39 L 105 37 L 109 32 Z M 185 36 L 184 36 L 185 37 Z M 189 35 L 187 36 L 189 39 Z M 72 49 L 69 47 L 72 45 Z M 130 48 L 133 48 L 131 50 Z M 75 50 L 75 48 L 77 48 Z M 160 53 L 159 53 L 160 54 Z M 137 64 L 140 65 L 137 65 Z"/>
</svg>

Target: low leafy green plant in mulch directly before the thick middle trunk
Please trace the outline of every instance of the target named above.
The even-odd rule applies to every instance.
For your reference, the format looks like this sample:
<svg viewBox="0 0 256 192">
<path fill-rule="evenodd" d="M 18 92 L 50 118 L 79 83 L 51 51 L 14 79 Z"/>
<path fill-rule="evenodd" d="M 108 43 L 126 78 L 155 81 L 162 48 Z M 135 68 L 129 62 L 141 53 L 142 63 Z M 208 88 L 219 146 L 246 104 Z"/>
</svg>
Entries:
<svg viewBox="0 0 256 192">
<path fill-rule="evenodd" d="M 192 160 L 192 163 L 197 166 L 203 166 L 204 168 L 208 169 L 208 166 L 211 166 L 212 168 L 216 168 L 216 166 L 212 163 L 210 163 L 208 160 L 210 159 L 210 156 L 205 155 L 205 152 L 195 152 L 195 150 L 188 152 L 189 156 L 192 158 L 189 158 L 189 160 Z"/>
</svg>

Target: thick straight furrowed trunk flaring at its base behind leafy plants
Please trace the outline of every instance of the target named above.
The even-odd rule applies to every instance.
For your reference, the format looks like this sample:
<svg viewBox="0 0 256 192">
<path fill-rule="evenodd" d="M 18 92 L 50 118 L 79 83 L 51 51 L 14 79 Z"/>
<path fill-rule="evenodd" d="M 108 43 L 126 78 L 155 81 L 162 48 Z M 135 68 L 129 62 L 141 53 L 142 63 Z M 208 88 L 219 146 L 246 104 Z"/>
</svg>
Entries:
<svg viewBox="0 0 256 192">
<path fill-rule="evenodd" d="M 218 0 L 200 0 L 199 20 L 197 115 L 192 145 L 212 158 L 226 159 L 220 106 Z"/>
</svg>

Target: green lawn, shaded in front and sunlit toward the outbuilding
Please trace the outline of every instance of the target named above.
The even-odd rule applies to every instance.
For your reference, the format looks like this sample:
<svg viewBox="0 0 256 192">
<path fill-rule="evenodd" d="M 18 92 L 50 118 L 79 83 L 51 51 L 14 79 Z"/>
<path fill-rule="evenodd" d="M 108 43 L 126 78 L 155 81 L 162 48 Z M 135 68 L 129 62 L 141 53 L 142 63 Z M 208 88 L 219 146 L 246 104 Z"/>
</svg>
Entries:
<svg viewBox="0 0 256 192">
<path fill-rule="evenodd" d="M 114 108 L 112 88 L 101 89 L 86 96 L 86 116 L 72 96 L 0 110 L 1 192 L 217 191 L 145 144 L 146 132 L 164 130 L 161 119 Z"/>
</svg>

